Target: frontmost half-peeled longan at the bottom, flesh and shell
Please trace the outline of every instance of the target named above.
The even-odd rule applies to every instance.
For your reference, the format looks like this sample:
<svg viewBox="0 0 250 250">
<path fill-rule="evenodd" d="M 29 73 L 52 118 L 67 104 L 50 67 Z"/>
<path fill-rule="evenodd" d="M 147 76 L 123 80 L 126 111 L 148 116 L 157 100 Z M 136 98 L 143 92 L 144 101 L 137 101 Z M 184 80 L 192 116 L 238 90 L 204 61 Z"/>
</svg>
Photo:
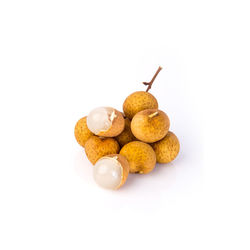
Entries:
<svg viewBox="0 0 250 250">
<path fill-rule="evenodd" d="M 120 188 L 128 178 L 129 163 L 119 154 L 107 155 L 94 166 L 94 179 L 98 185 L 108 189 Z"/>
</svg>

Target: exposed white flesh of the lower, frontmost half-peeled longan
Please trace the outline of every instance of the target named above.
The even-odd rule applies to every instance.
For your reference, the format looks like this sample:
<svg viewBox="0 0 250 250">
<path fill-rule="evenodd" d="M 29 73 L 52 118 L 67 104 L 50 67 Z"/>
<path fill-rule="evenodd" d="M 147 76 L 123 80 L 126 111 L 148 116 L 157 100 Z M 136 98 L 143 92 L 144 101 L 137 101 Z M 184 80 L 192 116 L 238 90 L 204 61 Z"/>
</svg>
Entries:
<svg viewBox="0 0 250 250">
<path fill-rule="evenodd" d="M 108 189 L 116 189 L 122 180 L 122 166 L 117 157 L 103 157 L 94 166 L 96 183 Z"/>
</svg>

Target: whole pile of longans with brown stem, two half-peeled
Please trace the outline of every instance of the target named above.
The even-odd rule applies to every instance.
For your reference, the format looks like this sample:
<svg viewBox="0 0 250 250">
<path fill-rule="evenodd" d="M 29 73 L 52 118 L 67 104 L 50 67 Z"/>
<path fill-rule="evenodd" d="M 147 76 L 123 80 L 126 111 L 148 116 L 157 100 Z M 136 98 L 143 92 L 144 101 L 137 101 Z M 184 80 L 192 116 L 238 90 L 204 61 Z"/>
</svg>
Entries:
<svg viewBox="0 0 250 250">
<path fill-rule="evenodd" d="M 169 163 L 179 153 L 168 116 L 148 93 L 160 70 L 149 83 L 144 82 L 146 91 L 126 98 L 123 113 L 111 107 L 96 108 L 75 126 L 75 138 L 94 165 L 94 179 L 104 188 L 118 189 L 129 173 L 147 174 L 156 162 Z"/>
</svg>

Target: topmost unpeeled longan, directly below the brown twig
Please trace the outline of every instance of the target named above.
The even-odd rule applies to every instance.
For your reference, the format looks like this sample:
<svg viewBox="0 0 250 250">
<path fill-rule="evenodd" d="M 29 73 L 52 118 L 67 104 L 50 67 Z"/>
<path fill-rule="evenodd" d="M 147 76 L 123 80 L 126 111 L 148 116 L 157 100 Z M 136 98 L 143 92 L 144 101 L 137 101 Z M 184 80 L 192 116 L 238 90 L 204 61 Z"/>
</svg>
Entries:
<svg viewBox="0 0 250 250">
<path fill-rule="evenodd" d="M 123 103 L 123 112 L 126 117 L 132 119 L 134 115 L 145 109 L 157 109 L 156 98 L 145 91 L 137 91 L 129 95 Z"/>
</svg>

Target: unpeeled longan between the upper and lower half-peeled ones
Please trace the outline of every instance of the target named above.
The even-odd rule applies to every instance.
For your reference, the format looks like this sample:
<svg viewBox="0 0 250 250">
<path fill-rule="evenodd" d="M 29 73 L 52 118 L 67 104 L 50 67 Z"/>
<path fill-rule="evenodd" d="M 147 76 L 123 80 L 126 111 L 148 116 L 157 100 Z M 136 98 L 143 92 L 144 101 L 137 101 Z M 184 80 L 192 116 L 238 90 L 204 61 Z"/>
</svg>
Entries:
<svg viewBox="0 0 250 250">
<path fill-rule="evenodd" d="M 113 138 L 91 136 L 85 143 L 85 153 L 92 164 L 105 155 L 117 154 L 119 150 L 120 146 Z"/>
</svg>

